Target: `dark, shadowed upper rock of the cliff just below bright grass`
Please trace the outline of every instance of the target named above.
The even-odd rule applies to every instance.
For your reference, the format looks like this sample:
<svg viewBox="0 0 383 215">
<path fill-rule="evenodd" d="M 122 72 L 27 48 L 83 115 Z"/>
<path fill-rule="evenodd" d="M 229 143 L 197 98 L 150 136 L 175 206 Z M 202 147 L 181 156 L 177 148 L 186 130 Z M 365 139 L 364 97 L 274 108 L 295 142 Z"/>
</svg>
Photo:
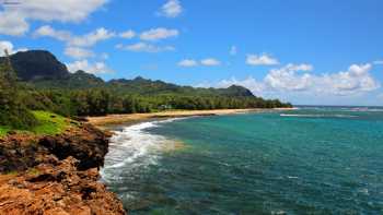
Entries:
<svg viewBox="0 0 383 215">
<path fill-rule="evenodd" d="M 50 154 L 58 159 L 77 158 L 80 170 L 98 168 L 104 165 L 107 148 L 108 135 L 90 124 L 55 136 L 10 135 L 0 140 L 0 172 L 26 170 Z"/>
</svg>

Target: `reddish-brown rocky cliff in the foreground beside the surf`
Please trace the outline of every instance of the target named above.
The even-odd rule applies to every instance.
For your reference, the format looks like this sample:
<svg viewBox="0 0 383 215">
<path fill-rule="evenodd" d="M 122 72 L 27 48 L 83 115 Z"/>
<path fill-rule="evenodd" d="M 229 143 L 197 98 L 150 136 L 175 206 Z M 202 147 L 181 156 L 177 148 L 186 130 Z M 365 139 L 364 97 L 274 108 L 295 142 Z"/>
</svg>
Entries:
<svg viewBox="0 0 383 215">
<path fill-rule="evenodd" d="M 89 124 L 0 140 L 0 214 L 125 214 L 98 182 L 108 135 Z"/>
</svg>

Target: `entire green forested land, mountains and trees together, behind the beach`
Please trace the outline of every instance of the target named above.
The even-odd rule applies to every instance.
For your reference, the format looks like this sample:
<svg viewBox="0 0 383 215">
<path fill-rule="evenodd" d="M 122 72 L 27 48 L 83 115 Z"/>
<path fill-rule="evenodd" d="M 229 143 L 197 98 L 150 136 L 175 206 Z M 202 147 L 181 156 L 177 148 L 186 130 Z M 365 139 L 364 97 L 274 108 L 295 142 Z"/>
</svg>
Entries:
<svg viewBox="0 0 383 215">
<path fill-rule="evenodd" d="M 84 71 L 69 73 L 48 51 L 18 52 L 0 58 L 0 123 L 18 128 L 34 123 L 27 110 L 48 110 L 63 116 L 103 116 L 166 109 L 291 106 L 277 99 L 256 97 L 235 85 L 195 88 L 143 77 L 104 82 Z"/>
</svg>

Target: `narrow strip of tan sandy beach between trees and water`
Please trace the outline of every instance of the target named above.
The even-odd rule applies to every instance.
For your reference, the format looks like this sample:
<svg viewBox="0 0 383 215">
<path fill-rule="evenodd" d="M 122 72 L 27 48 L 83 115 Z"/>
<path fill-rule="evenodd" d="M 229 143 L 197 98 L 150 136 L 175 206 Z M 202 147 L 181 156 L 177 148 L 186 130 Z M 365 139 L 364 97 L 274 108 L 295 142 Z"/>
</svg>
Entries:
<svg viewBox="0 0 383 215">
<path fill-rule="evenodd" d="M 246 112 L 262 112 L 262 111 L 281 111 L 281 110 L 294 110 L 297 108 L 253 108 L 253 109 L 213 109 L 213 110 L 170 110 L 162 112 L 148 112 L 148 114 L 125 114 L 125 115 L 107 115 L 103 117 L 86 117 L 89 123 L 104 128 L 108 126 L 119 124 L 135 124 L 142 121 L 152 119 L 171 119 L 171 118 L 184 118 L 184 117 L 209 117 L 209 116 L 223 116 L 223 115 L 236 115 Z"/>
</svg>

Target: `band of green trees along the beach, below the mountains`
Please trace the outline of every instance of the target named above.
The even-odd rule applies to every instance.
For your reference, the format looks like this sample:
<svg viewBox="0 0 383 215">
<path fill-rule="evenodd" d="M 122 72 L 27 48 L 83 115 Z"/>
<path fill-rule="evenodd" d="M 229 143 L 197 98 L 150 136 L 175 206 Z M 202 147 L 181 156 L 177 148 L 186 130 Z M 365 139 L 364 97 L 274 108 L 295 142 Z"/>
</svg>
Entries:
<svg viewBox="0 0 383 215">
<path fill-rule="evenodd" d="M 119 95 L 107 88 L 32 89 L 23 100 L 30 109 L 50 110 L 63 116 L 104 116 L 108 114 L 153 112 L 166 109 L 236 109 L 289 107 L 279 100 L 258 97 L 181 96 L 175 94 L 142 96 Z"/>
</svg>

